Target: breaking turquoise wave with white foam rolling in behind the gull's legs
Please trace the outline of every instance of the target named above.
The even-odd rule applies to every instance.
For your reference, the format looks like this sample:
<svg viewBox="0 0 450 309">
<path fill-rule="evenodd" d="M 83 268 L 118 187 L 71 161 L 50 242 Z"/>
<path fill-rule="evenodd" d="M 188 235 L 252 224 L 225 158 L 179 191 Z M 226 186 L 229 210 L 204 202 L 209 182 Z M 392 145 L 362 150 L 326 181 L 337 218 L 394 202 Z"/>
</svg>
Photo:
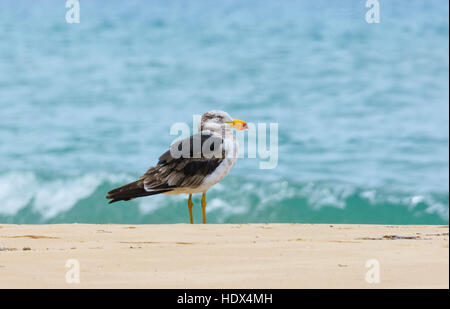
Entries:
<svg viewBox="0 0 450 309">
<path fill-rule="evenodd" d="M 107 173 L 55 179 L 32 172 L 0 174 L 0 222 L 186 221 L 184 195 L 159 195 L 108 205 L 106 192 L 133 178 Z M 194 197 L 194 203 L 200 204 L 199 196 Z M 195 211 L 200 218 L 200 207 Z M 414 194 L 336 182 L 264 182 L 229 176 L 208 192 L 207 214 L 213 223 L 448 224 L 449 196 L 448 192 Z"/>
</svg>

